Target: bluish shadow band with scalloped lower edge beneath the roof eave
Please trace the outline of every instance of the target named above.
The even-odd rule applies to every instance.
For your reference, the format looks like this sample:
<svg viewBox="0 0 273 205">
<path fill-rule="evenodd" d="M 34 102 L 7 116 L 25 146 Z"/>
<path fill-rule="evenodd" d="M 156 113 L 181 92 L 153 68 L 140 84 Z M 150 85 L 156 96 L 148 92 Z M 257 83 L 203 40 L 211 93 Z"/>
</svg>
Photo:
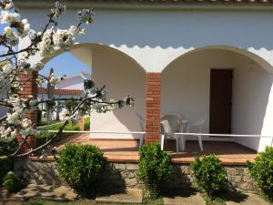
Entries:
<svg viewBox="0 0 273 205">
<path fill-rule="evenodd" d="M 264 11 L 99 11 L 96 24 L 88 30 L 93 42 L 115 46 L 231 45 L 272 50 L 272 19 L 272 13 Z M 116 26 L 116 22 L 122 22 L 121 26 Z M 90 42 L 88 36 L 84 38 Z"/>
</svg>

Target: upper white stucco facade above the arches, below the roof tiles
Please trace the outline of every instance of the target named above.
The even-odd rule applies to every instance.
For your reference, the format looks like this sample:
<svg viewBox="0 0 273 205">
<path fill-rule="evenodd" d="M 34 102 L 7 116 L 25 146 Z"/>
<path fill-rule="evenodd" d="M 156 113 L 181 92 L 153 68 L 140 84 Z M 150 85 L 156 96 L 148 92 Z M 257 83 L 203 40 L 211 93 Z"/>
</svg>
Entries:
<svg viewBox="0 0 273 205">
<path fill-rule="evenodd" d="M 47 10 L 21 8 L 35 27 L 45 23 Z M 76 22 L 76 11 L 68 9 L 60 27 Z M 272 20 L 272 11 L 97 8 L 95 24 L 86 26 L 86 36 L 77 41 L 116 47 L 149 72 L 160 72 L 189 50 L 216 45 L 241 47 L 272 65 Z"/>
</svg>

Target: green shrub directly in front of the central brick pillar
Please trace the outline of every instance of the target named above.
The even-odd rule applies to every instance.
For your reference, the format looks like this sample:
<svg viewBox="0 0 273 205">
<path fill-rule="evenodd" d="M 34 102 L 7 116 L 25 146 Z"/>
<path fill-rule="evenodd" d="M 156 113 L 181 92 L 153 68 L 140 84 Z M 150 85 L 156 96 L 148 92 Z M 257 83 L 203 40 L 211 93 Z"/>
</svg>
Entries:
<svg viewBox="0 0 273 205">
<path fill-rule="evenodd" d="M 161 182 L 171 174 L 170 158 L 158 143 L 151 143 L 139 149 L 137 177 L 144 181 L 152 195 L 157 195 Z"/>
</svg>

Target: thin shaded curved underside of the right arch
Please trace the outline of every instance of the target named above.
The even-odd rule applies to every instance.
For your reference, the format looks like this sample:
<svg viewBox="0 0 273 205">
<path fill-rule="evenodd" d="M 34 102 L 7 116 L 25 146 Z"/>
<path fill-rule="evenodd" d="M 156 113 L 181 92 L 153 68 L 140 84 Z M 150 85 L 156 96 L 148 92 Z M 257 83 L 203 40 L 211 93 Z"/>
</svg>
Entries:
<svg viewBox="0 0 273 205">
<path fill-rule="evenodd" d="M 264 58 L 262 58 L 261 56 L 258 56 L 257 54 L 254 54 L 251 51 L 248 51 L 246 49 L 243 48 L 239 48 L 236 46 L 226 46 L 226 45 L 218 45 L 218 46 L 202 46 L 202 47 L 197 47 L 194 48 L 190 51 L 187 51 L 186 53 L 183 53 L 180 56 L 177 56 L 174 60 L 172 60 L 167 67 L 170 67 L 175 61 L 177 61 L 178 59 L 182 58 L 182 57 L 186 57 L 189 56 L 191 54 L 197 53 L 197 52 L 201 52 L 201 51 L 205 51 L 205 50 L 211 50 L 211 49 L 218 49 L 218 50 L 225 50 L 225 51 L 231 51 L 237 54 L 240 54 L 242 56 L 247 56 L 249 59 L 253 60 L 254 62 L 256 62 L 259 66 L 263 67 L 265 70 L 268 71 L 268 73 L 273 74 L 273 67 L 268 63 L 267 60 L 265 60 Z M 165 67 L 161 73 L 163 73 L 167 67 Z"/>
</svg>

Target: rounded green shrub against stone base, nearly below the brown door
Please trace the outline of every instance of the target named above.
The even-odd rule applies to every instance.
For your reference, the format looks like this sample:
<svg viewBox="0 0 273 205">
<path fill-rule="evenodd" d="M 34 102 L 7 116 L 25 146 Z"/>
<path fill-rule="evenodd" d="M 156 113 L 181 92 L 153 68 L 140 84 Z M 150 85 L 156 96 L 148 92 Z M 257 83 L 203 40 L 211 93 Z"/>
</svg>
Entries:
<svg viewBox="0 0 273 205">
<path fill-rule="evenodd" d="M 218 191 L 227 188 L 227 173 L 216 155 L 199 157 L 190 164 L 197 179 L 197 185 L 205 190 L 208 197 L 213 197 Z"/>
</svg>

